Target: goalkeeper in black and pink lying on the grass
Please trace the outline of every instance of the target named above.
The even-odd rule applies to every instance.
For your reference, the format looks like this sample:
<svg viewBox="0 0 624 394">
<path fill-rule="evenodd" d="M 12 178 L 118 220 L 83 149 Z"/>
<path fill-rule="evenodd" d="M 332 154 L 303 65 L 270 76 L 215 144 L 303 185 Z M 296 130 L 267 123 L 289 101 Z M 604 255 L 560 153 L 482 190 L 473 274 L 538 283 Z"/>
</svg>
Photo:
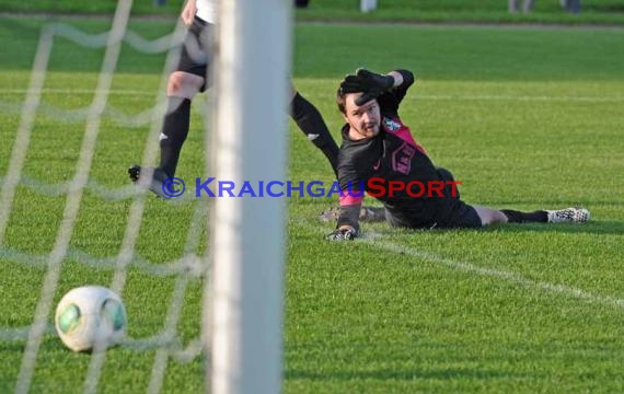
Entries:
<svg viewBox="0 0 624 394">
<path fill-rule="evenodd" d="M 585 208 L 521 212 L 462 201 L 452 174 L 434 165 L 398 116 L 398 105 L 413 83 L 414 74 L 406 70 L 382 76 L 359 69 L 342 81 L 337 104 L 346 124 L 338 182 L 344 197 L 337 229 L 327 236 L 330 240 L 358 236 L 365 190 L 383 204 L 392 225 L 409 229 L 589 220 Z"/>
</svg>

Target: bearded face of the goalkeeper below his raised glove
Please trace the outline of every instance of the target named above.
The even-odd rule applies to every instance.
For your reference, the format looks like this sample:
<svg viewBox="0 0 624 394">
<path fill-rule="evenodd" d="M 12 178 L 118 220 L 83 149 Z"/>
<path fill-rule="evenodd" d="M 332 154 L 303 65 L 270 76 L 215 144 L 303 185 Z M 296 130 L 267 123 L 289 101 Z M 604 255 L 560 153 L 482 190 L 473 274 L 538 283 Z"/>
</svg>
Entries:
<svg viewBox="0 0 624 394">
<path fill-rule="evenodd" d="M 377 136 L 381 124 L 381 115 L 377 100 L 357 105 L 356 100 L 360 95 L 362 95 L 362 93 L 349 93 L 345 95 L 345 113 L 343 116 L 349 124 L 349 137 L 355 140 Z"/>
</svg>

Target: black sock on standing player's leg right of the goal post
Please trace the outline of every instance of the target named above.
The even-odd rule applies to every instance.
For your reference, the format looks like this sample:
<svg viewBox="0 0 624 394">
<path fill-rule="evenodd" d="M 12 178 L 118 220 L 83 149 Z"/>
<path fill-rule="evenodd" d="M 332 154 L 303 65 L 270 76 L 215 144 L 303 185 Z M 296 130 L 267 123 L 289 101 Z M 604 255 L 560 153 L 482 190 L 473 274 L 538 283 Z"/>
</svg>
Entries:
<svg viewBox="0 0 624 394">
<path fill-rule="evenodd" d="M 338 146 L 327 129 L 327 125 L 325 125 L 319 109 L 299 93 L 296 93 L 290 103 L 290 111 L 292 120 L 297 123 L 297 126 L 299 126 L 305 137 L 323 151 L 330 164 L 332 164 L 332 170 L 338 176 Z"/>
</svg>

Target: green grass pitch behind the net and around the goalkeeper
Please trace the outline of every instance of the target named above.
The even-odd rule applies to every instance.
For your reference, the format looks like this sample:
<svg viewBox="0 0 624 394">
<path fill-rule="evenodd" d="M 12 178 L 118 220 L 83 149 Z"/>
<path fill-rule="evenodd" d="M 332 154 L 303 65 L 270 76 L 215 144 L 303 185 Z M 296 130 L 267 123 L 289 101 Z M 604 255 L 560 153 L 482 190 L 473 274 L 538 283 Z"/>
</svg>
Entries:
<svg viewBox="0 0 624 394">
<path fill-rule="evenodd" d="M 71 23 L 103 32 L 105 21 Z M 43 20 L 0 23 L 0 175 L 9 167 Z M 135 22 L 159 37 L 171 23 Z M 623 392 L 624 391 L 624 31 L 300 24 L 294 83 L 338 138 L 334 94 L 357 67 L 407 68 L 417 76 L 402 106 L 405 123 L 435 163 L 463 182 L 472 204 L 494 208 L 583 205 L 586 225 L 504 225 L 483 231 L 405 231 L 365 224 L 365 237 L 328 243 L 316 215 L 332 198 L 288 200 L 284 389 L 287 393 Z M 65 195 L 43 193 L 76 171 L 103 53 L 55 42 L 22 175 L 0 244 L 0 333 L 32 324 Z M 163 56 L 125 46 L 109 105 L 127 115 L 151 108 Z M 178 170 L 203 175 L 201 102 Z M 103 117 L 91 181 L 128 184 L 148 127 Z M 289 178 L 332 181 L 324 157 L 290 123 Z M 49 192 L 49 190 L 48 190 Z M 372 201 L 369 200 L 369 204 Z M 131 200 L 84 194 L 71 250 L 115 257 Z M 137 253 L 162 264 L 184 251 L 195 206 L 148 199 Z M 198 253 L 206 250 L 205 243 Z M 70 288 L 112 280 L 67 258 L 55 302 Z M 173 277 L 129 270 L 129 334 L 159 334 Z M 200 333 L 203 282 L 192 281 L 177 324 L 184 346 Z M 54 314 L 54 309 L 50 311 Z M 0 338 L 2 338 L 0 336 Z M 0 340 L 0 392 L 12 392 L 23 340 Z M 155 349 L 107 351 L 99 391 L 145 392 Z M 32 391 L 79 393 L 89 356 L 47 335 Z M 170 359 L 163 392 L 201 392 L 204 361 Z"/>
</svg>

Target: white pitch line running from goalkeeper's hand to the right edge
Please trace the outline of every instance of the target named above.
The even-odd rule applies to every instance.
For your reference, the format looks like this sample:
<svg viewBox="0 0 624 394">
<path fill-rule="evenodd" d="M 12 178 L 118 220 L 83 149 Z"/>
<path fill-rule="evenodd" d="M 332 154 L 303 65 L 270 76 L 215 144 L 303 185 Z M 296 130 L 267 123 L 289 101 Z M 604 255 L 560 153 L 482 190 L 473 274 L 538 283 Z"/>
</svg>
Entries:
<svg viewBox="0 0 624 394">
<path fill-rule="evenodd" d="M 428 252 L 421 252 L 421 251 L 418 251 L 418 250 L 413 248 L 413 247 L 407 247 L 407 246 L 393 244 L 390 242 L 384 242 L 384 241 L 379 240 L 378 237 L 373 237 L 370 241 L 367 240 L 365 242 L 367 242 L 368 244 L 374 245 L 374 246 L 380 246 L 380 247 L 382 247 L 386 251 L 393 252 L 393 253 L 404 254 L 404 255 L 421 258 L 421 259 L 430 262 L 430 263 L 444 265 L 444 266 L 447 266 L 451 269 L 454 269 L 454 270 L 472 273 L 472 274 L 475 274 L 475 275 L 478 275 L 482 277 L 499 278 L 499 279 L 510 281 L 510 282 L 519 283 L 519 285 L 524 286 L 527 288 L 539 289 L 539 290 L 542 290 L 546 293 L 562 294 L 562 296 L 571 297 L 571 298 L 576 298 L 576 299 L 587 300 L 587 301 L 592 302 L 592 303 L 604 304 L 604 305 L 616 306 L 616 308 L 624 308 L 624 299 L 619 299 L 619 298 L 614 298 L 614 297 L 597 296 L 597 294 L 587 292 L 585 290 L 580 290 L 580 289 L 573 288 L 573 287 L 565 286 L 565 285 L 555 285 L 555 283 L 550 283 L 550 282 L 544 282 L 544 281 L 531 280 L 531 279 L 524 278 L 523 276 L 520 276 L 518 274 L 513 274 L 510 271 L 505 271 L 505 270 L 494 269 L 494 268 L 487 268 L 487 267 L 478 267 L 478 266 L 475 266 L 475 265 L 470 264 L 470 263 L 455 262 L 455 260 L 452 260 L 450 258 L 444 258 L 444 257 L 441 257 L 441 256 L 438 256 L 436 254 L 428 253 Z"/>
</svg>

